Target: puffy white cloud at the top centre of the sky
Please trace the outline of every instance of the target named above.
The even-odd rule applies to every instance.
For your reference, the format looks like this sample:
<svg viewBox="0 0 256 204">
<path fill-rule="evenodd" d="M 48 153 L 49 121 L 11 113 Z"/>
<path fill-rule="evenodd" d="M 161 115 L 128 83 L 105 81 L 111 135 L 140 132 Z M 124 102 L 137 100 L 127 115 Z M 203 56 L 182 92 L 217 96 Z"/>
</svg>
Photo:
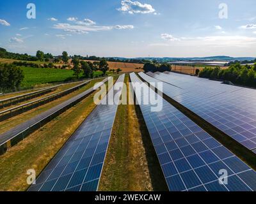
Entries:
<svg viewBox="0 0 256 204">
<path fill-rule="evenodd" d="M 125 0 L 121 2 L 122 7 L 118 8 L 118 11 L 134 13 L 154 13 L 157 15 L 156 10 L 150 4 L 142 4 L 138 1 Z"/>
</svg>

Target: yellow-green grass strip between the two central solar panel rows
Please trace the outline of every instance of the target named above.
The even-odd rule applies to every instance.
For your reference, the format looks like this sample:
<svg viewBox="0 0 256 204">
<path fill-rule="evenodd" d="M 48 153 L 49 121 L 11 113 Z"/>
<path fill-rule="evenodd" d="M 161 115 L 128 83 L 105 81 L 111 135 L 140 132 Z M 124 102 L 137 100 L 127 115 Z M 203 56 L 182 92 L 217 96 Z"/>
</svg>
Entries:
<svg viewBox="0 0 256 204">
<path fill-rule="evenodd" d="M 128 76 L 125 77 L 128 82 Z M 164 190 L 161 169 L 134 105 L 120 105 L 100 178 L 100 191 Z M 143 129 L 141 131 L 141 129 Z M 156 170 L 157 169 L 157 170 Z M 153 173 L 156 172 L 158 173 Z M 158 184 L 154 182 L 158 180 Z M 163 184 L 163 187 L 159 185 Z M 158 186 L 157 186 L 158 185 Z"/>
</svg>

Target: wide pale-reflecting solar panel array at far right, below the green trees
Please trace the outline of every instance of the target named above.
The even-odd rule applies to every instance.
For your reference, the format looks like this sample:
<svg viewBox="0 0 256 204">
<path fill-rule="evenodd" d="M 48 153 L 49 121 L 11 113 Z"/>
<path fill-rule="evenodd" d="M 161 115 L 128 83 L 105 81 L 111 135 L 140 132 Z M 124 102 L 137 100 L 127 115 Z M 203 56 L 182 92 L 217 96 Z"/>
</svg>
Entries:
<svg viewBox="0 0 256 204">
<path fill-rule="evenodd" d="M 255 89 L 177 73 L 148 75 L 140 73 L 147 82 L 166 82 L 164 94 L 256 153 Z M 184 92 L 175 96 L 177 89 Z"/>
</svg>

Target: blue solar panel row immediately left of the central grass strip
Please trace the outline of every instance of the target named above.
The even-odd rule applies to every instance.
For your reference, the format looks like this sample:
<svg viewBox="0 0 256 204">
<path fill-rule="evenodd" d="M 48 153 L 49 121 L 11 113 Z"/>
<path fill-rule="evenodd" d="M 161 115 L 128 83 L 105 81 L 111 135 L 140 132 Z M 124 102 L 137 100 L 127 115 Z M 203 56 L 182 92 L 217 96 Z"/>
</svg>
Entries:
<svg viewBox="0 0 256 204">
<path fill-rule="evenodd" d="M 116 82 L 124 82 L 124 75 Z M 119 99 L 122 88 L 114 87 L 109 93 Z M 97 191 L 117 107 L 97 105 L 29 191 Z"/>
</svg>

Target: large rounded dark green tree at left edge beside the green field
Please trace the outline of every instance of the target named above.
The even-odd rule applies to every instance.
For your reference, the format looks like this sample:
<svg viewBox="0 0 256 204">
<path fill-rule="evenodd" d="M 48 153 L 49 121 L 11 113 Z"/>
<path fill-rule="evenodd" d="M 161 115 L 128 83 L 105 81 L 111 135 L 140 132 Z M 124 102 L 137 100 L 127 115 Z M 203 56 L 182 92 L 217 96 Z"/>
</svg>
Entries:
<svg viewBox="0 0 256 204">
<path fill-rule="evenodd" d="M 13 64 L 0 64 L 0 90 L 17 89 L 24 79 L 23 71 Z"/>
</svg>

